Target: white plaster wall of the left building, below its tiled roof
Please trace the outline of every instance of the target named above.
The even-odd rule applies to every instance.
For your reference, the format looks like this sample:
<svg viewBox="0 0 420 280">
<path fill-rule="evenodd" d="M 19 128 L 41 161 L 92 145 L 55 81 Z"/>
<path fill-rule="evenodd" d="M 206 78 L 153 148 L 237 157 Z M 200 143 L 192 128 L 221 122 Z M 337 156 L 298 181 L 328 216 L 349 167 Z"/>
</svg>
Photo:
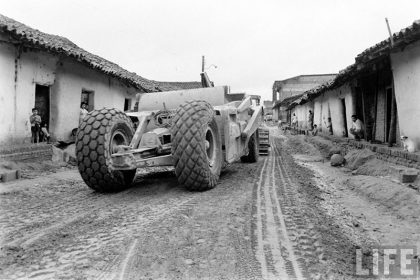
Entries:
<svg viewBox="0 0 420 280">
<path fill-rule="evenodd" d="M 123 110 L 125 98 L 133 99 L 132 106 L 135 103 L 134 88 L 79 62 L 69 58 L 59 62 L 58 56 L 38 51 L 17 55 L 13 45 L 0 43 L 0 145 L 30 142 L 36 84 L 51 86 L 49 130 L 58 139 L 68 138 L 78 126 L 82 89 L 95 92 L 95 108 Z"/>
</svg>

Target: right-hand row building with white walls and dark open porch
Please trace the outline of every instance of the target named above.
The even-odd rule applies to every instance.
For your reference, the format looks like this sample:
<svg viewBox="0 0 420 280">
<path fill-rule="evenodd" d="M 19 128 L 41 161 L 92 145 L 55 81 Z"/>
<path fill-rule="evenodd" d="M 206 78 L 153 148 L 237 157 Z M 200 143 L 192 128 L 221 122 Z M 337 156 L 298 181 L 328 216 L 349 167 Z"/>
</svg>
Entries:
<svg viewBox="0 0 420 280">
<path fill-rule="evenodd" d="M 420 150 L 420 21 L 393 34 L 392 42 L 366 49 L 331 82 L 303 96 L 287 106 L 303 120 L 302 129 L 304 112 L 313 108 L 314 123 L 324 132 L 330 117 L 334 135 L 353 137 L 351 116 L 357 115 L 366 141 L 399 145 L 404 135 Z"/>
</svg>

